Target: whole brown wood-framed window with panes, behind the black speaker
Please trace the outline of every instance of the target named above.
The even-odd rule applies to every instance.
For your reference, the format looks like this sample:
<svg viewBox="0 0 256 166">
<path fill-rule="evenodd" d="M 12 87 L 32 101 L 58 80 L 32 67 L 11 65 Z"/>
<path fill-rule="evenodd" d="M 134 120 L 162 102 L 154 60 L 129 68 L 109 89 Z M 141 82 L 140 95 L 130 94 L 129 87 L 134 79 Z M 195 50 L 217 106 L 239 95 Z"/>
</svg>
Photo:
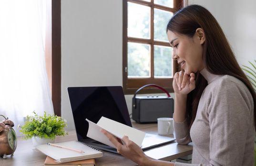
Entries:
<svg viewBox="0 0 256 166">
<path fill-rule="evenodd" d="M 123 89 L 132 94 L 148 83 L 173 92 L 173 75 L 178 71 L 166 25 L 181 0 L 123 0 Z M 144 92 L 159 92 L 147 89 Z"/>
</svg>

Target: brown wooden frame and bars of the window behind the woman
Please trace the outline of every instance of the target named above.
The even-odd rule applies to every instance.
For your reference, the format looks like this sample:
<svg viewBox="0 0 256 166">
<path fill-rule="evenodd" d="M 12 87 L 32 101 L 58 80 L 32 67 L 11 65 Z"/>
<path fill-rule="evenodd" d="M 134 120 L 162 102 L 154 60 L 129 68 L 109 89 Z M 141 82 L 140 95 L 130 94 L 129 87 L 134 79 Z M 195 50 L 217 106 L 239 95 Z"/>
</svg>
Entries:
<svg viewBox="0 0 256 166">
<path fill-rule="evenodd" d="M 133 2 L 140 5 L 151 7 L 151 25 L 150 25 L 150 39 L 142 39 L 135 37 L 127 37 L 127 3 Z M 170 46 L 169 42 L 155 41 L 154 40 L 154 8 L 163 9 L 171 12 L 175 12 L 184 6 L 184 0 L 174 0 L 174 8 L 164 7 L 158 4 L 154 4 L 154 0 L 147 2 L 144 0 L 123 0 L 123 91 L 125 94 L 133 94 L 137 89 L 148 83 L 155 83 L 164 87 L 168 92 L 174 92 L 172 87 L 173 78 L 154 78 L 154 46 Z M 151 78 L 128 78 L 127 72 L 127 42 L 135 42 L 142 44 L 149 44 L 151 46 Z M 173 64 L 174 73 L 177 72 L 178 64 L 175 61 Z M 142 91 L 143 93 L 157 93 L 159 90 L 149 87 Z"/>
</svg>

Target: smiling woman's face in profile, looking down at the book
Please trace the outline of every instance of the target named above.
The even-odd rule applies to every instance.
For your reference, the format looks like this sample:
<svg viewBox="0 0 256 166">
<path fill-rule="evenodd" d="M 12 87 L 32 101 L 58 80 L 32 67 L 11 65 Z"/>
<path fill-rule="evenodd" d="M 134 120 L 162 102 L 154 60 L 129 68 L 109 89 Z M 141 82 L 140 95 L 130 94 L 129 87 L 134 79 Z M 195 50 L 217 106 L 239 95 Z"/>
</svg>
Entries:
<svg viewBox="0 0 256 166">
<path fill-rule="evenodd" d="M 185 74 L 189 75 L 204 69 L 203 44 L 205 36 L 203 30 L 198 33 L 196 31 L 194 37 L 187 37 L 168 30 L 167 36 L 173 47 L 173 59 L 178 61 Z"/>
</svg>

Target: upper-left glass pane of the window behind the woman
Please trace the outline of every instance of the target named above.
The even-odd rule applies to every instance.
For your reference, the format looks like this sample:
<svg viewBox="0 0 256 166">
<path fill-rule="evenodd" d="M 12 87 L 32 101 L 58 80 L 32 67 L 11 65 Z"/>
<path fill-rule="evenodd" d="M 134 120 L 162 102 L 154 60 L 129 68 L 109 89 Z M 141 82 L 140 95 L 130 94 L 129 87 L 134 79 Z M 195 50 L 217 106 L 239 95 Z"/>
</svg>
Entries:
<svg viewBox="0 0 256 166">
<path fill-rule="evenodd" d="M 149 39 L 150 7 L 128 2 L 128 37 Z"/>
</svg>

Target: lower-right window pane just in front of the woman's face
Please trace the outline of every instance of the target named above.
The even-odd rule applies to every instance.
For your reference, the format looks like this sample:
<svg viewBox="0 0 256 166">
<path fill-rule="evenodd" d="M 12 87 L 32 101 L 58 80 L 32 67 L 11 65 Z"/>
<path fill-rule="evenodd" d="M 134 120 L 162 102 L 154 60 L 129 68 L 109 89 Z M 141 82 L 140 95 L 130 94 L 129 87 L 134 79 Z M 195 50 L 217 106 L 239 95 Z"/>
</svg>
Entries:
<svg viewBox="0 0 256 166">
<path fill-rule="evenodd" d="M 172 77 L 172 47 L 154 46 L 154 77 Z"/>
</svg>

